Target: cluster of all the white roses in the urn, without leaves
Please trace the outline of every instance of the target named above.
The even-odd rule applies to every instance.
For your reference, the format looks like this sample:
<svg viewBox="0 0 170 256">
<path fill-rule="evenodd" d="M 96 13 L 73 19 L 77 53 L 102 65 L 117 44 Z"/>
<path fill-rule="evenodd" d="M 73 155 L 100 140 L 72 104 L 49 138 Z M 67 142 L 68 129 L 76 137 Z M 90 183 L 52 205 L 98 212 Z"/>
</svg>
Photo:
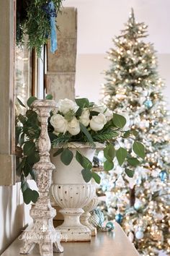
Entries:
<svg viewBox="0 0 170 256">
<path fill-rule="evenodd" d="M 76 116 L 79 106 L 75 101 L 68 100 L 67 98 L 58 101 L 57 111 L 50 118 L 50 124 L 54 128 L 54 133 L 65 134 L 69 132 L 71 135 L 78 135 L 81 131 L 80 123 L 86 128 L 97 132 L 103 129 L 107 121 L 112 119 L 112 111 L 106 106 L 94 105 L 90 108 L 83 108 L 81 116 Z M 91 111 L 98 114 L 91 116 Z M 90 119 L 91 116 L 91 119 Z"/>
</svg>

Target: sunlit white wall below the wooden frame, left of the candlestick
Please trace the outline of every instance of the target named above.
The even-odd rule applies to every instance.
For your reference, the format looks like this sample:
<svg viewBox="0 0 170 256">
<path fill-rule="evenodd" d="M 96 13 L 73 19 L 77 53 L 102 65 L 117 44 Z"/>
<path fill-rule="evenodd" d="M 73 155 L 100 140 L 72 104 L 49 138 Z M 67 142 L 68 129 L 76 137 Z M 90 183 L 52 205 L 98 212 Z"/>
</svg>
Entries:
<svg viewBox="0 0 170 256">
<path fill-rule="evenodd" d="M 29 183 L 30 187 L 36 188 L 35 182 Z M 30 205 L 23 203 L 20 183 L 0 187 L 0 255 L 32 221 L 29 210 Z"/>
</svg>

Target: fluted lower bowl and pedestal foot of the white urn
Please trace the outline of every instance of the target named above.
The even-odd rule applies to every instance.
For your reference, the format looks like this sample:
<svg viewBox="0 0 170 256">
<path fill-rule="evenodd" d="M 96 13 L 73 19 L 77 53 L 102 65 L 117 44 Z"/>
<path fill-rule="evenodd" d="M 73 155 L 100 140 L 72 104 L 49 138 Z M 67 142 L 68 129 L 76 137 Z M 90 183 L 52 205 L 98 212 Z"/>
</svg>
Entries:
<svg viewBox="0 0 170 256">
<path fill-rule="evenodd" d="M 91 231 L 80 222 L 82 208 L 94 197 L 92 184 L 52 184 L 51 192 L 62 210 L 64 222 L 56 230 L 61 233 L 62 242 L 91 241 Z"/>
</svg>

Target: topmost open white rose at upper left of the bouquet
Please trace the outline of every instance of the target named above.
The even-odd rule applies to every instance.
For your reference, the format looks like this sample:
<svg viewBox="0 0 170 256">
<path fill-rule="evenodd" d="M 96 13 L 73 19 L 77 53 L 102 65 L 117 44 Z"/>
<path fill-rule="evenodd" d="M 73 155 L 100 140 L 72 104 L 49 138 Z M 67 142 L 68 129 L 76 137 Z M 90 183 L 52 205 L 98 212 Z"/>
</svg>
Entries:
<svg viewBox="0 0 170 256">
<path fill-rule="evenodd" d="M 77 106 L 76 102 L 68 100 L 68 98 L 58 101 L 58 110 L 63 114 L 66 114 L 70 110 L 76 113 L 78 109 L 79 106 Z"/>
</svg>

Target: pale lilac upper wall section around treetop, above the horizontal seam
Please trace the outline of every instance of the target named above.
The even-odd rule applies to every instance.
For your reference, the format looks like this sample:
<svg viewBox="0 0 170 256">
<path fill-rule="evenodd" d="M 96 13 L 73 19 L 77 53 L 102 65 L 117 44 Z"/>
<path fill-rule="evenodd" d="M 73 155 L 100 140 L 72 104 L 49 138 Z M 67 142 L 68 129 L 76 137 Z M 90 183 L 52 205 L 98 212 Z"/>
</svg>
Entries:
<svg viewBox="0 0 170 256">
<path fill-rule="evenodd" d="M 78 12 L 78 54 L 104 54 L 120 34 L 133 7 L 138 22 L 148 25 L 148 40 L 159 54 L 170 53 L 169 0 L 66 0 Z"/>
</svg>

